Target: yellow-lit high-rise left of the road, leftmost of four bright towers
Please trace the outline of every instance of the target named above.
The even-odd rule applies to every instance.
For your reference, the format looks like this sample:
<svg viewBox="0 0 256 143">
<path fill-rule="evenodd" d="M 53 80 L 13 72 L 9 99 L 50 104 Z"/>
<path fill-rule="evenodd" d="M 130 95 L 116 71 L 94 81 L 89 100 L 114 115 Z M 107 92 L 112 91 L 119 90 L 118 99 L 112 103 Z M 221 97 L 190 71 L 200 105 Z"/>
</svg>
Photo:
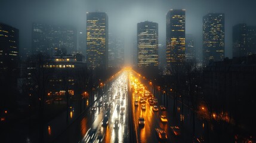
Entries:
<svg viewBox="0 0 256 143">
<path fill-rule="evenodd" d="M 106 13 L 87 13 L 88 69 L 106 69 L 109 60 L 109 24 Z"/>
</svg>

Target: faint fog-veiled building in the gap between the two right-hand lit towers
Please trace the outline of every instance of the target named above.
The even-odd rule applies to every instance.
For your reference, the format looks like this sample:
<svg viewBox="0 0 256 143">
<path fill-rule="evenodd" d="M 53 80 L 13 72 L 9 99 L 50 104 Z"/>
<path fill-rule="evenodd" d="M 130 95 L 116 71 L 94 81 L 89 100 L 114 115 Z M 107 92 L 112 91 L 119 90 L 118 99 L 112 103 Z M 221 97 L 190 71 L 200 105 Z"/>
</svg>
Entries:
<svg viewBox="0 0 256 143">
<path fill-rule="evenodd" d="M 186 61 L 196 58 L 195 41 L 192 35 L 186 35 Z"/>
</svg>

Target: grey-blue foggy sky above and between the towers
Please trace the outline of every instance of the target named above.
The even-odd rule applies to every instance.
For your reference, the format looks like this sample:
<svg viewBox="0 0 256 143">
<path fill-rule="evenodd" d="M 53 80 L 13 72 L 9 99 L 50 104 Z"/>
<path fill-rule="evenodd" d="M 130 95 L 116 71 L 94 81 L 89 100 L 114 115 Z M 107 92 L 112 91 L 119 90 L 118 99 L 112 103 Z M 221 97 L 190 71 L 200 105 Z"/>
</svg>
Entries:
<svg viewBox="0 0 256 143">
<path fill-rule="evenodd" d="M 109 16 L 109 32 L 126 39 L 129 61 L 137 23 L 145 20 L 159 24 L 159 43 L 165 44 L 165 15 L 171 9 L 186 10 L 186 33 L 195 36 L 202 48 L 202 17 L 208 13 L 225 14 L 225 57 L 232 57 L 232 26 L 256 26 L 254 0 L 0 0 L 0 22 L 20 29 L 20 49 L 31 48 L 32 22 L 71 24 L 86 29 L 86 12 L 101 11 Z M 20 51 L 22 53 L 22 51 Z"/>
</svg>

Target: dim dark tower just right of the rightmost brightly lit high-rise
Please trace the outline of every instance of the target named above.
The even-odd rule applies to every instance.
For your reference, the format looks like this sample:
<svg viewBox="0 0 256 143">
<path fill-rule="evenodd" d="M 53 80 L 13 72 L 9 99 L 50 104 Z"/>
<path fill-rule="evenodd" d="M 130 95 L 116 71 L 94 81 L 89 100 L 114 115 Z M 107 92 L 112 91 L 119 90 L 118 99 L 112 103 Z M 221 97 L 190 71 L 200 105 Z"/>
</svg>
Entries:
<svg viewBox="0 0 256 143">
<path fill-rule="evenodd" d="M 233 57 L 245 57 L 248 53 L 246 24 L 233 26 Z"/>
</svg>

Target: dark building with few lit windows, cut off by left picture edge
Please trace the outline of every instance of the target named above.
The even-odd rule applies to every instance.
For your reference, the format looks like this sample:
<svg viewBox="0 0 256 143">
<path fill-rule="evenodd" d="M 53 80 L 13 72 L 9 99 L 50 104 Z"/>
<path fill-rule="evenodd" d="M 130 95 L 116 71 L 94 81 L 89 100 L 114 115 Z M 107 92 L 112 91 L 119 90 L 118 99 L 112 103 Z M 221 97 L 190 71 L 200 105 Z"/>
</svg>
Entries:
<svg viewBox="0 0 256 143">
<path fill-rule="evenodd" d="M 17 96 L 19 30 L 0 23 L 0 111 L 12 107 Z M 14 106 L 13 106 L 14 108 Z"/>
</svg>

